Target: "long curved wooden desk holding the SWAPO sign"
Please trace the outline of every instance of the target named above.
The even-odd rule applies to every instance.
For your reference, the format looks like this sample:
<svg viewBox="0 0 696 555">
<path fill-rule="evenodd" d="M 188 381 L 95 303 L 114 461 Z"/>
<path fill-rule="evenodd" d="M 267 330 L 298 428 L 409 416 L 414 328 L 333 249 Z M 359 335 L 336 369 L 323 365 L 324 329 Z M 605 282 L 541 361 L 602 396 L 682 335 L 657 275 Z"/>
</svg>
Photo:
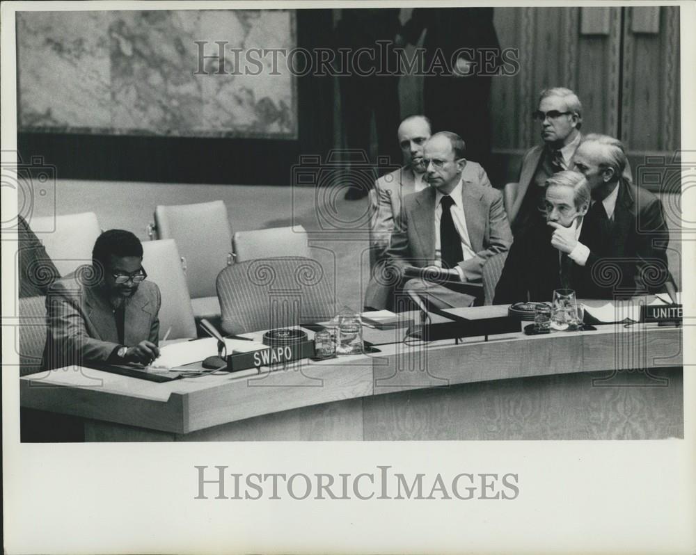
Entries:
<svg viewBox="0 0 696 555">
<path fill-rule="evenodd" d="M 20 395 L 84 418 L 92 441 L 683 437 L 681 337 L 656 324 L 519 332 L 168 383 L 59 369 L 21 378 Z"/>
</svg>

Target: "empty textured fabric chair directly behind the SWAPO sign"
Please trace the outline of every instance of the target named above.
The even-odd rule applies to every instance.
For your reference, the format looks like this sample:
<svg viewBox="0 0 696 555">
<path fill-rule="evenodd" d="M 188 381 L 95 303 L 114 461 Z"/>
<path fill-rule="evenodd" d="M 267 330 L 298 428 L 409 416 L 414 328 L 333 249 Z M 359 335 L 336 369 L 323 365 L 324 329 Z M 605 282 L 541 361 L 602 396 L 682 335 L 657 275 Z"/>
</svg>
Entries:
<svg viewBox="0 0 696 555">
<path fill-rule="evenodd" d="M 326 321 L 335 314 L 335 276 L 310 258 L 233 264 L 218 276 L 217 292 L 226 333 Z"/>
</svg>

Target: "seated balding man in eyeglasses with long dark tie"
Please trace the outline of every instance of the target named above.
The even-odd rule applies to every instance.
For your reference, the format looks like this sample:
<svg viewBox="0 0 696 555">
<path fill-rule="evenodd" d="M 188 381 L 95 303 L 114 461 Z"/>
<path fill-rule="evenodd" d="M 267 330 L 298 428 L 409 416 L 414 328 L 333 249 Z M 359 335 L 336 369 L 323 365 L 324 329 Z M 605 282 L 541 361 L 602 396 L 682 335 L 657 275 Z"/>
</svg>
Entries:
<svg viewBox="0 0 696 555">
<path fill-rule="evenodd" d="M 512 243 L 500 191 L 462 179 L 465 154 L 464 140 L 449 131 L 425 143 L 429 187 L 404 198 L 387 251 L 404 291 L 437 308 L 480 299 L 484 263 Z"/>
</svg>

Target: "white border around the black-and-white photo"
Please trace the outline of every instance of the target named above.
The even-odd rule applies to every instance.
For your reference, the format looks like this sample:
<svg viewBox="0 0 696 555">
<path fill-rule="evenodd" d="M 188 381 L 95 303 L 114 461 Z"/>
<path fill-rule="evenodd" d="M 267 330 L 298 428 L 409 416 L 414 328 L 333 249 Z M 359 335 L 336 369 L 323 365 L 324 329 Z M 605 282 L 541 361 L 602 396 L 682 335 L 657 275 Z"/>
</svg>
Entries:
<svg viewBox="0 0 696 555">
<path fill-rule="evenodd" d="M 482 2 L 483 4 L 486 4 Z M 422 2 L 282 3 L 284 8 L 410 7 Z M 462 3 L 438 3 L 462 6 Z M 479 3 L 481 4 L 481 3 Z M 491 5 L 491 3 L 488 3 Z M 496 7 L 530 2 L 495 3 Z M 432 4 L 429 4 L 432 6 Z M 538 1 L 534 6 L 577 6 Z M 696 4 L 681 7 L 682 150 L 696 163 Z M 28 2 L 1 5 L 1 144 L 17 150 L 18 10 L 271 8 L 271 2 Z M 691 122 L 691 123 L 688 123 Z M 696 178 L 693 180 L 696 182 Z M 696 183 L 693 183 L 696 184 Z M 693 184 L 690 184 L 693 187 Z M 683 187 L 689 186 L 684 183 Z M 2 214 L 16 197 L 2 188 Z M 686 192 L 683 200 L 693 199 Z M 688 193 L 691 193 L 690 195 Z M 682 202 L 696 221 L 696 202 Z M 2 244 L 2 303 L 13 306 L 15 252 Z M 682 246 L 689 246 L 683 241 Z M 685 322 L 693 318 L 693 249 L 682 248 Z M 9 287 L 8 287 L 9 284 Z M 696 348 L 684 328 L 684 362 Z M 3 326 L 3 344 L 12 330 Z M 12 348 L 3 362 L 12 363 Z M 17 357 L 14 355 L 15 358 Z M 17 361 L 15 361 L 17 362 Z M 693 364 L 693 362 L 692 362 Z M 526 442 L 229 442 L 19 444 L 19 383 L 3 372 L 3 514 L 6 553 L 694 553 L 696 378 L 684 367 L 684 439 Z M 514 500 L 195 500 L 194 465 L 229 472 L 396 472 L 519 475 Z"/>
</svg>

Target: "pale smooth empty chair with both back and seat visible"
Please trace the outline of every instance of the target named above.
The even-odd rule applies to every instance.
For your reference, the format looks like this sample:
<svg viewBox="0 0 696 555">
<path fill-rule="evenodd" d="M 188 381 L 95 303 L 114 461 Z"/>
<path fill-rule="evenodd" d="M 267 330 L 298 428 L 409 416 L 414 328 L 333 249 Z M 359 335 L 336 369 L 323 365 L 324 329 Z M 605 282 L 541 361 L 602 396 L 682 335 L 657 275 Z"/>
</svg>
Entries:
<svg viewBox="0 0 696 555">
<path fill-rule="evenodd" d="M 232 232 L 221 200 L 200 204 L 158 206 L 155 227 L 159 239 L 174 239 L 186 261 L 191 306 L 197 319 L 217 319 L 220 305 L 215 279 L 232 260 Z"/>
</svg>

